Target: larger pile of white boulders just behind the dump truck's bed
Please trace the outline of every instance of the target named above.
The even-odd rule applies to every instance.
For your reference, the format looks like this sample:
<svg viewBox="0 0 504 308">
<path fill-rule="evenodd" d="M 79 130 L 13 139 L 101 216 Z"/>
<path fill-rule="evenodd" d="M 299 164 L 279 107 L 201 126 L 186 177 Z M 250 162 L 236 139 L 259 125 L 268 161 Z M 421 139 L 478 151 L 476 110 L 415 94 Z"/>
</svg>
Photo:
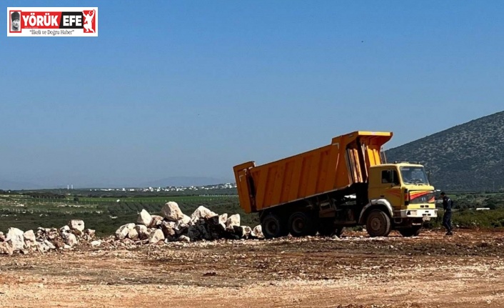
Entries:
<svg viewBox="0 0 504 308">
<path fill-rule="evenodd" d="M 219 215 L 201 206 L 188 217 L 176 202 L 166 203 L 161 216 L 151 215 L 143 209 L 136 224 L 124 224 L 116 231 L 116 239 L 137 244 L 259 238 L 263 238 L 261 225 L 253 229 L 241 226 L 239 214 L 228 217 L 228 214 Z"/>
</svg>

